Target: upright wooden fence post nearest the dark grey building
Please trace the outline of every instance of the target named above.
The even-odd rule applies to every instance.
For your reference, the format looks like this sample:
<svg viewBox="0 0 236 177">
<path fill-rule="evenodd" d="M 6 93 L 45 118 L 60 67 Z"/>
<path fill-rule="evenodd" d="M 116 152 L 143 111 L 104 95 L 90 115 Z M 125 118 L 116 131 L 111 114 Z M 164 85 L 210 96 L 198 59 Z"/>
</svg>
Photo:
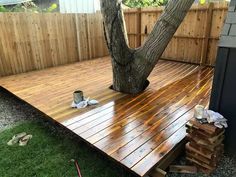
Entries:
<svg viewBox="0 0 236 177">
<path fill-rule="evenodd" d="M 208 47 L 209 47 L 209 38 L 211 33 L 211 27 L 212 27 L 212 15 L 213 15 L 213 7 L 214 3 L 209 3 L 208 9 L 207 9 L 207 19 L 206 19 L 206 29 L 204 32 L 204 41 L 203 41 L 203 47 L 202 47 L 202 57 L 200 65 L 205 65 L 207 61 L 207 53 L 208 53 Z"/>
</svg>

